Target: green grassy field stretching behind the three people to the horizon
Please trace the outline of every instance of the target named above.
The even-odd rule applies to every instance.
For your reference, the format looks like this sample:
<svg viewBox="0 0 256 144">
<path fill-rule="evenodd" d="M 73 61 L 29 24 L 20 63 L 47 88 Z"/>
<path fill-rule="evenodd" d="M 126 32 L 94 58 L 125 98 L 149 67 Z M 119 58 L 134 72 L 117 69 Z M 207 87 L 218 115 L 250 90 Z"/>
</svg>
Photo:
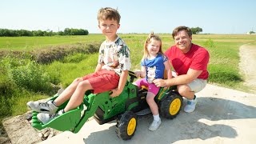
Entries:
<svg viewBox="0 0 256 144">
<path fill-rule="evenodd" d="M 118 35 L 130 47 L 131 70 L 140 69 L 139 62 L 142 58 L 143 45 L 147 34 Z M 159 36 L 162 38 L 163 51 L 174 44 L 171 34 L 159 34 Z M 24 51 L 29 53 L 30 51 L 40 50 L 46 50 L 46 52 L 48 50 L 50 52 L 53 50 L 53 47 L 93 44 L 94 42 L 102 42 L 104 39 L 102 34 L 70 37 L 0 37 L 0 52 L 16 53 L 16 51 Z M 196 34 L 193 35 L 193 42 L 206 47 L 210 52 L 210 63 L 208 66 L 210 72 L 209 83 L 242 91 L 248 89 L 248 87 L 242 84 L 243 76 L 238 67 L 239 47 L 247 43 L 256 45 L 256 35 Z M 51 96 L 42 91 L 33 91 L 30 87 L 22 87 L 28 81 L 26 79 L 27 77 L 31 77 L 30 79 L 36 77 L 35 80 L 38 80 L 38 75 L 41 74 L 42 77 L 40 78 L 42 78 L 43 82 L 50 81 L 54 85 L 66 87 L 74 78 L 93 72 L 97 65 L 97 59 L 97 53 L 74 53 L 69 54 L 62 60 L 47 64 L 32 65 L 30 62 L 31 58 L 28 56 L 15 55 L 10 58 L 8 54 L 2 55 L 2 58 L 0 58 L 0 120 L 7 116 L 24 114 L 27 111 L 26 102 L 30 100 Z M 30 63 L 30 68 L 27 67 L 26 63 Z M 19 78 L 17 74 L 20 74 L 21 70 L 27 70 L 28 76 L 25 76 L 24 80 L 19 81 L 19 79 L 17 80 Z M 12 77 L 10 77 L 10 71 L 14 74 Z M 14 83 L 14 79 L 10 79 L 14 78 L 15 74 L 16 84 Z M 35 80 L 34 85 L 42 83 Z M 17 82 L 21 86 L 18 86 Z M 26 83 L 26 85 L 30 85 L 30 83 Z"/>
</svg>

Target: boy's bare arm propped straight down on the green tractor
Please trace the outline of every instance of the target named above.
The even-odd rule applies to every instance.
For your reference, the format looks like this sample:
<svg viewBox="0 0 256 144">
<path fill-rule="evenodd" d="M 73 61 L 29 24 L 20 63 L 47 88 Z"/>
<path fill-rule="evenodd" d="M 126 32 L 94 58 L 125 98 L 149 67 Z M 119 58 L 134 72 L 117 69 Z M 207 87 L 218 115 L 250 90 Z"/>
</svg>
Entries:
<svg viewBox="0 0 256 144">
<path fill-rule="evenodd" d="M 119 94 L 122 93 L 122 90 L 126 85 L 127 77 L 128 77 L 128 70 L 122 70 L 119 83 L 118 83 L 118 88 L 111 90 L 113 93 L 110 94 L 110 97 L 117 97 Z"/>
</svg>

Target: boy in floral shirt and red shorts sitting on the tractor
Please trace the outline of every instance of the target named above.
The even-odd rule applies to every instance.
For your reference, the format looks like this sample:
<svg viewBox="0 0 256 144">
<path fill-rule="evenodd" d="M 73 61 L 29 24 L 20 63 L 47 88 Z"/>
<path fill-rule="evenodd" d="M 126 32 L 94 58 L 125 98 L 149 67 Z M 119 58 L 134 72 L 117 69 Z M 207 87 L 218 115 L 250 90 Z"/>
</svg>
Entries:
<svg viewBox="0 0 256 144">
<path fill-rule="evenodd" d="M 92 90 L 94 94 L 112 91 L 111 97 L 122 93 L 131 62 L 128 46 L 117 35 L 120 18 L 118 11 L 110 7 L 98 11 L 98 28 L 106 40 L 100 47 L 98 65 L 93 74 L 76 78 L 54 101 L 27 102 L 27 106 L 39 112 L 37 117 L 43 124 L 81 105 L 86 90 Z M 66 107 L 56 113 L 58 106 L 69 99 Z"/>
</svg>

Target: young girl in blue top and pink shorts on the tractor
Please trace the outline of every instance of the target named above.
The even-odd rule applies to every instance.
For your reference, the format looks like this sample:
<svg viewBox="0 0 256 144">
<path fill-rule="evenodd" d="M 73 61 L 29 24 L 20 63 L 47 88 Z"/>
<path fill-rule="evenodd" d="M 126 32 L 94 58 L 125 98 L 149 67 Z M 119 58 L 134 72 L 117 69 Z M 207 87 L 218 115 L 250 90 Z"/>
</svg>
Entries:
<svg viewBox="0 0 256 144">
<path fill-rule="evenodd" d="M 150 125 L 149 130 L 157 130 L 161 124 L 161 119 L 158 113 L 158 105 L 154 102 L 154 97 L 158 94 L 159 87 L 155 86 L 153 81 L 157 78 L 163 78 L 165 69 L 168 78 L 171 78 L 172 75 L 170 62 L 162 53 L 162 41 L 157 35 L 154 35 L 154 33 L 149 34 L 148 38 L 146 38 L 141 66 L 141 71 L 135 71 L 137 78 L 141 77 L 141 79 L 134 82 L 134 85 L 139 88 L 141 88 L 141 86 L 147 86 L 149 88 L 146 95 L 146 102 L 150 106 L 154 117 L 154 121 Z"/>
</svg>

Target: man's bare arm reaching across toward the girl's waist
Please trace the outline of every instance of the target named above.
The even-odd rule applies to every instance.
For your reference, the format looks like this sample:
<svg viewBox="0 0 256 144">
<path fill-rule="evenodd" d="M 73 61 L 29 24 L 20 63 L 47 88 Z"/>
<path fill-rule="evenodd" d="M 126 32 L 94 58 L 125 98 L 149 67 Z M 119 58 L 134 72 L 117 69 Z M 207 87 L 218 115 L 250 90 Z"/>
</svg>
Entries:
<svg viewBox="0 0 256 144">
<path fill-rule="evenodd" d="M 178 75 L 175 78 L 155 79 L 153 82 L 155 86 L 177 86 L 194 81 L 202 73 L 202 70 L 189 69 L 187 74 Z"/>
</svg>

